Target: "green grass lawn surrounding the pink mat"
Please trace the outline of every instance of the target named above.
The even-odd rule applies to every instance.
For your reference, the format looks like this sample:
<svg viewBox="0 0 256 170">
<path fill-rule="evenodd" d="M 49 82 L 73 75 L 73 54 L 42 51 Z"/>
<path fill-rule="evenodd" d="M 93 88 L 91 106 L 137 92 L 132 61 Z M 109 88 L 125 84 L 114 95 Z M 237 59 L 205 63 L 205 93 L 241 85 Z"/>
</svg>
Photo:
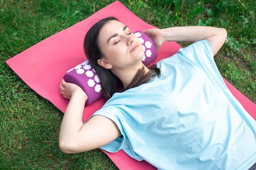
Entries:
<svg viewBox="0 0 256 170">
<path fill-rule="evenodd" d="M 0 1 L 0 167 L 2 169 L 114 170 L 100 150 L 67 155 L 58 148 L 63 114 L 31 90 L 5 60 L 107 6 L 110 0 Z M 256 103 L 254 0 L 121 0 L 159 28 L 224 27 L 227 44 L 216 55 L 223 77 Z M 185 46 L 186 43 L 181 43 Z"/>
</svg>

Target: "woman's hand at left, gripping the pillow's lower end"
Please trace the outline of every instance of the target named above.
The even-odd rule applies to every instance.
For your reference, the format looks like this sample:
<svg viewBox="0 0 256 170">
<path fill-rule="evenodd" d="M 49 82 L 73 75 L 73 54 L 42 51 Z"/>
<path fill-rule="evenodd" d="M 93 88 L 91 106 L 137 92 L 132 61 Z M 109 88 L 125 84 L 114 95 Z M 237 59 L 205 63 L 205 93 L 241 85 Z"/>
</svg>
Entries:
<svg viewBox="0 0 256 170">
<path fill-rule="evenodd" d="M 65 99 L 71 99 L 72 94 L 75 91 L 79 91 L 79 93 L 84 93 L 85 95 L 85 101 L 88 99 L 88 96 L 86 95 L 86 93 L 76 84 L 72 84 L 72 83 L 67 83 L 65 82 L 64 79 L 62 79 L 61 84 L 60 84 L 60 90 L 61 90 L 61 95 L 65 98 Z"/>
</svg>

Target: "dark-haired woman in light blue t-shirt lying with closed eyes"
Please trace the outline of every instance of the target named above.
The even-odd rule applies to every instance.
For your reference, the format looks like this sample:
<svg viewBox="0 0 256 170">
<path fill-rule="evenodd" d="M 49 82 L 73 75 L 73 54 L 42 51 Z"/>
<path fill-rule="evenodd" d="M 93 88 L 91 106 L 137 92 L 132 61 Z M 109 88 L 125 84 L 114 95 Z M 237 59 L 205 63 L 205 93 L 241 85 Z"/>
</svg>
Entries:
<svg viewBox="0 0 256 170">
<path fill-rule="evenodd" d="M 160 170 L 246 170 L 256 160 L 256 121 L 230 93 L 213 56 L 225 29 L 149 29 L 157 50 L 167 41 L 193 42 L 147 68 L 139 39 L 115 18 L 92 26 L 85 55 L 100 77 L 106 104 L 83 124 L 87 95 L 62 80 L 70 99 L 61 123 L 65 153 L 101 147 L 124 150 Z"/>
</svg>

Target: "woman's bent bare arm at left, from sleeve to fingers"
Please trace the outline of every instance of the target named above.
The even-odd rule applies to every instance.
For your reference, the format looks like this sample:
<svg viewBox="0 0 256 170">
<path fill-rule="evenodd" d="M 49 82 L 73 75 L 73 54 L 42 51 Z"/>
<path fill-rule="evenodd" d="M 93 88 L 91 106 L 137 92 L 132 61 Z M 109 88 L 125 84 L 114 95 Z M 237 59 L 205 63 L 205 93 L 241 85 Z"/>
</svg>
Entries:
<svg viewBox="0 0 256 170">
<path fill-rule="evenodd" d="M 61 122 L 59 147 L 65 153 L 79 153 L 99 148 L 121 135 L 117 125 L 107 117 L 95 115 L 82 122 L 87 95 L 83 90 L 62 80 L 61 94 L 70 99 Z"/>
</svg>

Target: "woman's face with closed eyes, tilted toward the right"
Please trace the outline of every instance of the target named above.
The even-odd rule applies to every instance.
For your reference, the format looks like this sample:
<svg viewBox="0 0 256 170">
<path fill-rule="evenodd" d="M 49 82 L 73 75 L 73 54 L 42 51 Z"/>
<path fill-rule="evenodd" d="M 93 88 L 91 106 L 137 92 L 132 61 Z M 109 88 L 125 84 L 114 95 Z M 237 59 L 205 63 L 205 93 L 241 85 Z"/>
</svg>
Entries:
<svg viewBox="0 0 256 170">
<path fill-rule="evenodd" d="M 125 69 L 142 63 L 144 51 L 139 39 L 119 21 L 110 20 L 102 27 L 99 46 L 109 69 Z"/>
</svg>

